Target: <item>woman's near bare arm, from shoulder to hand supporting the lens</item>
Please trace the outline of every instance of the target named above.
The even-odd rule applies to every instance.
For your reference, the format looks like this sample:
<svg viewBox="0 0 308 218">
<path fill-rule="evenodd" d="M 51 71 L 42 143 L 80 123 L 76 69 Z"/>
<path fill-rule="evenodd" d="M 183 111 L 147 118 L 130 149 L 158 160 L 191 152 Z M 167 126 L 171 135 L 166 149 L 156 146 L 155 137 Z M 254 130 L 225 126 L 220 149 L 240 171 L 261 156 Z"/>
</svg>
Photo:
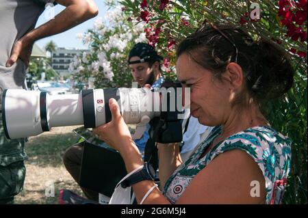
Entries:
<svg viewBox="0 0 308 218">
<path fill-rule="evenodd" d="M 112 122 L 94 128 L 93 132 L 114 149 L 120 151 L 127 172 L 131 172 L 143 165 L 140 152 L 133 143 L 129 129 L 120 115 L 118 104 L 113 98 L 110 99 L 110 110 Z M 256 188 L 251 187 L 251 184 L 255 181 L 259 182 L 258 196 L 251 195 L 252 189 Z M 155 182 L 150 180 L 143 180 L 133 185 L 137 202 L 141 202 L 153 185 Z M 265 180 L 259 166 L 246 152 L 231 150 L 218 155 L 207 167 L 198 172 L 176 203 L 258 204 L 264 203 L 265 197 Z M 170 204 L 170 202 L 161 191 L 153 189 L 146 197 L 144 204 Z"/>
</svg>

